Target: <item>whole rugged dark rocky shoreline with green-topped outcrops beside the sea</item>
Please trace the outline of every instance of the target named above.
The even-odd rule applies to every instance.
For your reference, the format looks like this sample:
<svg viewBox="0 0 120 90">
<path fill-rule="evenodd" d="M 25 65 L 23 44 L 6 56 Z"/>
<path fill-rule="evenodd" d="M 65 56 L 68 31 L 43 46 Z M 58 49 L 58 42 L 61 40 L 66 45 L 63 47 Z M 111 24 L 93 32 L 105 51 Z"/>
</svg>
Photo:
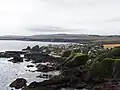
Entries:
<svg viewBox="0 0 120 90">
<path fill-rule="evenodd" d="M 24 78 L 18 78 L 10 84 L 16 89 L 120 90 L 120 47 L 105 49 L 101 44 L 36 45 L 22 51 L 1 52 L 0 57 L 13 57 L 9 60 L 13 63 L 22 63 L 24 59 L 32 61 L 37 68 L 35 72 L 60 72 L 59 75 L 41 74 L 37 77 L 47 80 L 29 85 Z"/>
</svg>

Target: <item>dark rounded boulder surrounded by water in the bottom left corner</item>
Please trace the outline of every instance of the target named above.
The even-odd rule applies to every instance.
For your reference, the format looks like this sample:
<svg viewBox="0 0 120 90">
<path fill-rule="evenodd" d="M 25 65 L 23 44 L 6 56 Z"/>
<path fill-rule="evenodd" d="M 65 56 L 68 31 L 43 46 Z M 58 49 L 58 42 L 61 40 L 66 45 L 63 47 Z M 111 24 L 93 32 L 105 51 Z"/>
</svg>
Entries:
<svg viewBox="0 0 120 90">
<path fill-rule="evenodd" d="M 26 86 L 27 81 L 24 78 L 18 78 L 15 81 L 13 81 L 9 86 L 14 87 L 15 89 L 20 89 Z"/>
</svg>

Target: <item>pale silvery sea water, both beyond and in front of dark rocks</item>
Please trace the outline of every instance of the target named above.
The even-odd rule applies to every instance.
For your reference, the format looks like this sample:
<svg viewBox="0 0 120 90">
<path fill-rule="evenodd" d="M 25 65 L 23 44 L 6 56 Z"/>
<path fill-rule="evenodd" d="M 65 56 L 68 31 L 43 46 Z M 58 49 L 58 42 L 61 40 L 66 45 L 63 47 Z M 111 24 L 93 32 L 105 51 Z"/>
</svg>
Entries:
<svg viewBox="0 0 120 90">
<path fill-rule="evenodd" d="M 66 44 L 66 43 L 51 43 L 51 42 L 35 42 L 35 41 L 11 41 L 0 40 L 0 51 L 22 50 L 27 46 L 46 46 L 49 44 Z M 33 81 L 43 81 L 42 78 L 36 78 L 40 72 L 30 72 L 36 68 L 27 68 L 31 62 L 12 63 L 8 62 L 10 58 L 0 58 L 0 90 L 11 90 L 9 84 L 17 78 L 25 78 L 28 84 Z M 57 72 L 50 72 L 56 74 Z"/>
</svg>

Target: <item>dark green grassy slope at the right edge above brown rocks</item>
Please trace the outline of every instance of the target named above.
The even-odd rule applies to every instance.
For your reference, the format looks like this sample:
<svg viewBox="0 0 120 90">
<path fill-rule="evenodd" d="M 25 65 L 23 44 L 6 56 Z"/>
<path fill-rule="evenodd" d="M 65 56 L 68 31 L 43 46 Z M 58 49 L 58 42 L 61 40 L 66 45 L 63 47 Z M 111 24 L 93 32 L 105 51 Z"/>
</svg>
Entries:
<svg viewBox="0 0 120 90">
<path fill-rule="evenodd" d="M 101 53 L 91 62 L 87 79 L 100 76 L 120 78 L 120 47 Z"/>
</svg>

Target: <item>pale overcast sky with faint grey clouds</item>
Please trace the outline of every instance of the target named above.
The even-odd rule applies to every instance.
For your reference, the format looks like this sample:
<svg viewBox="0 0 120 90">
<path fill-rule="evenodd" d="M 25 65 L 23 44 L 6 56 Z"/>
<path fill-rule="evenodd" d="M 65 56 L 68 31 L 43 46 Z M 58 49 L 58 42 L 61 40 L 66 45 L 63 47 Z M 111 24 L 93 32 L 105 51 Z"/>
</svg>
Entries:
<svg viewBox="0 0 120 90">
<path fill-rule="evenodd" d="M 120 0 L 0 0 L 0 35 L 120 34 Z"/>
</svg>

